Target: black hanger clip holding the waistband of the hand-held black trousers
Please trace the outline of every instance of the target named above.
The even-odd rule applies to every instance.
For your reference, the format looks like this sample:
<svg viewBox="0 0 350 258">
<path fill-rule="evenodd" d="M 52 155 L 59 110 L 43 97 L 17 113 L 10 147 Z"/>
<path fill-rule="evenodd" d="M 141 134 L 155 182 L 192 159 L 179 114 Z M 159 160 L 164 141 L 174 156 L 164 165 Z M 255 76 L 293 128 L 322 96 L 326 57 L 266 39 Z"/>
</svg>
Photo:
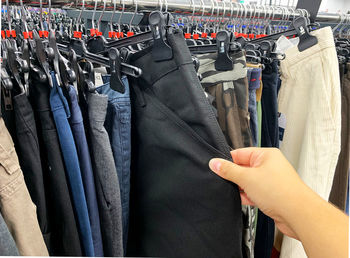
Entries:
<svg viewBox="0 0 350 258">
<path fill-rule="evenodd" d="M 160 11 L 154 11 L 149 15 L 149 24 L 151 26 L 153 47 L 152 57 L 156 62 L 166 61 L 173 58 L 173 50 L 165 42 L 166 22 L 165 17 Z"/>
</svg>

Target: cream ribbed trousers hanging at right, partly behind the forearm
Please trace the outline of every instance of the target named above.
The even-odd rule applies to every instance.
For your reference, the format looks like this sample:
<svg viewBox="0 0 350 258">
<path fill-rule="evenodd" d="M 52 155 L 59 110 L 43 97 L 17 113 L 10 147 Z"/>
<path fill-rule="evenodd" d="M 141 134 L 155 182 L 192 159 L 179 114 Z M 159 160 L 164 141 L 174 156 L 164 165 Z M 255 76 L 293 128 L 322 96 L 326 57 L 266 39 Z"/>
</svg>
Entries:
<svg viewBox="0 0 350 258">
<path fill-rule="evenodd" d="M 280 149 L 302 180 L 328 200 L 340 152 L 339 65 L 331 28 L 312 34 L 317 45 L 303 52 L 292 47 L 281 61 L 278 109 L 285 131 Z M 299 241 L 284 236 L 280 257 L 306 254 Z"/>
</svg>

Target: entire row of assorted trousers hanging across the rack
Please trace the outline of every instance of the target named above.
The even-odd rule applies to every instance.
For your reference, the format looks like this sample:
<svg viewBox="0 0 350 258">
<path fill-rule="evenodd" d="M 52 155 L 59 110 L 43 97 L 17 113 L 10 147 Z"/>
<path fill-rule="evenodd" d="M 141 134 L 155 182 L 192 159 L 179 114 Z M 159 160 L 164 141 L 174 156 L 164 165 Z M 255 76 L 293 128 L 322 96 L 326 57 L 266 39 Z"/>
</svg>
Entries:
<svg viewBox="0 0 350 258">
<path fill-rule="evenodd" d="M 290 43 L 279 62 L 249 63 L 239 50 L 229 53 L 233 69 L 218 71 L 209 53 L 196 55 L 197 71 L 173 30 L 170 60 L 154 61 L 152 47 L 130 56 L 142 75 L 122 78 L 125 93 L 108 75 L 88 92 L 59 85 L 54 72 L 52 88 L 30 74 L 28 96 L 3 90 L 1 254 L 270 258 L 275 245 L 281 257 L 304 257 L 208 162 L 280 148 L 344 209 L 350 65 L 339 78 L 331 29 L 312 34 L 315 46 Z"/>
</svg>

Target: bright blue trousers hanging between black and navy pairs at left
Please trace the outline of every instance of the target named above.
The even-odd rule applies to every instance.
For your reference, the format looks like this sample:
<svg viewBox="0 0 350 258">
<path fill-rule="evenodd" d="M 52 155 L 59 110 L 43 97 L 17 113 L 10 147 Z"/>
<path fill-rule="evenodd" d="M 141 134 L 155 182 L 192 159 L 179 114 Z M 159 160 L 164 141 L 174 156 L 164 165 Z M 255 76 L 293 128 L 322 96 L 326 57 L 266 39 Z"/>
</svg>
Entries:
<svg viewBox="0 0 350 258">
<path fill-rule="evenodd" d="M 86 256 L 94 256 L 89 213 L 86 204 L 83 181 L 81 178 L 79 159 L 73 134 L 68 123 L 70 110 L 62 89 L 58 86 L 54 72 L 51 72 L 53 88 L 50 92 L 50 105 L 55 120 L 63 159 L 67 169 L 73 206 L 78 221 L 80 240 Z"/>
</svg>

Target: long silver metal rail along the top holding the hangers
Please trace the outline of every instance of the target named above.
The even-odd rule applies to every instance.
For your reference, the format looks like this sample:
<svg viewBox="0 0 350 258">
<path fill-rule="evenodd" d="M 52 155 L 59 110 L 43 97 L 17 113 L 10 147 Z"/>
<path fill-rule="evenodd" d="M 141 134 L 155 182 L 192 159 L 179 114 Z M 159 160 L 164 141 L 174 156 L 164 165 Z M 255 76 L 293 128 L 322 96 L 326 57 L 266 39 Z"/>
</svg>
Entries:
<svg viewBox="0 0 350 258">
<path fill-rule="evenodd" d="M 102 6 L 102 1 L 98 1 Z M 85 12 L 93 7 L 95 1 L 85 1 Z M 10 3 L 14 2 L 10 0 Z M 77 10 L 81 6 L 79 0 L 52 0 L 53 6 L 63 6 L 66 10 Z M 32 1 L 27 1 L 28 5 L 35 5 Z M 264 5 L 251 5 L 233 3 L 228 0 L 116 0 L 117 8 L 121 10 L 121 6 L 125 5 L 125 11 L 133 12 L 137 4 L 138 11 L 142 10 L 163 10 L 171 13 L 188 14 L 212 17 L 228 17 L 228 18 L 261 18 L 269 20 L 292 20 L 300 15 L 308 16 L 308 12 L 305 9 L 295 10 L 293 7 L 285 6 L 264 6 Z M 113 7 L 113 0 L 107 0 L 106 14 L 108 16 L 108 10 Z M 346 17 L 346 18 L 345 18 Z M 344 20 L 349 20 L 350 14 L 330 14 L 319 13 L 316 17 L 316 22 L 325 23 L 340 23 Z"/>
</svg>

